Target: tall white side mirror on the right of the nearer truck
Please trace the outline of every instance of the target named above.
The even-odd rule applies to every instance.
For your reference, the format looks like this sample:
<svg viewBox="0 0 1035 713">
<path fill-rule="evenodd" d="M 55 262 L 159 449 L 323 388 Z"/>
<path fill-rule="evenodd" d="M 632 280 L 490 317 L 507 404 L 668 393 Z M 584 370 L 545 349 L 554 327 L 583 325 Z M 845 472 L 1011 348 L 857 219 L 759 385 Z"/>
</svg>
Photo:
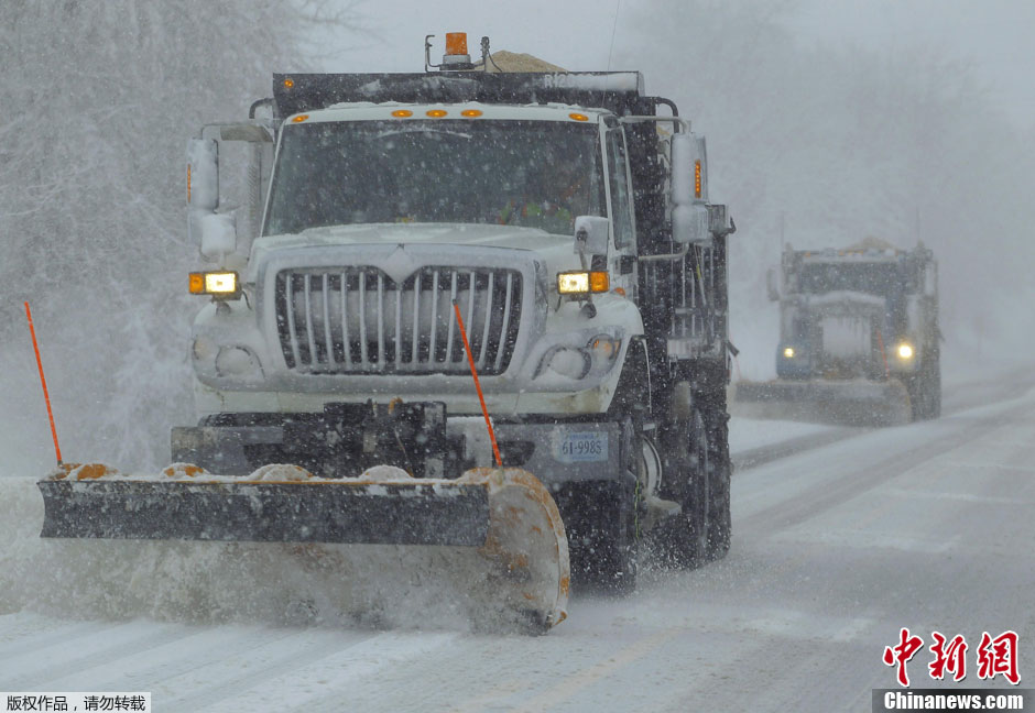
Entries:
<svg viewBox="0 0 1035 713">
<path fill-rule="evenodd" d="M 684 245 L 711 242 L 706 153 L 704 136 L 672 136 L 672 239 Z"/>
</svg>

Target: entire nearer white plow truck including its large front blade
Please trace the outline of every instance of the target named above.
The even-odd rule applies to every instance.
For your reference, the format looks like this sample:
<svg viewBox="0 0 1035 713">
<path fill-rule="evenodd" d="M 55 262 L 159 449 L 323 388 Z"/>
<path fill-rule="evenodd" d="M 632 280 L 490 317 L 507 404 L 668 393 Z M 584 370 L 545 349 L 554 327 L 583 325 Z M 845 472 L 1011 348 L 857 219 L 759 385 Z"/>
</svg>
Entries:
<svg viewBox="0 0 1035 713">
<path fill-rule="evenodd" d="M 724 556 L 732 223 L 704 138 L 638 72 L 429 46 L 418 74 L 276 74 L 189 142 L 199 423 L 164 479 L 42 481 L 45 537 L 466 548 L 540 628 L 569 548 L 617 591 L 641 542 Z"/>
</svg>

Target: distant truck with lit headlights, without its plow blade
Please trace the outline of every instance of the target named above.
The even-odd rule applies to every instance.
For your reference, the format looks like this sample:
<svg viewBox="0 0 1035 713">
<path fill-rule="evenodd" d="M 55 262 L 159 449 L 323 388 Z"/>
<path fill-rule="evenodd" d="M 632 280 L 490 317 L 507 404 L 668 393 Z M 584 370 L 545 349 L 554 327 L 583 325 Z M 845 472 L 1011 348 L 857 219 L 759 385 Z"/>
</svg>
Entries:
<svg viewBox="0 0 1035 713">
<path fill-rule="evenodd" d="M 776 374 L 782 380 L 901 382 L 912 417 L 940 412 L 937 263 L 870 238 L 782 259 Z"/>
</svg>

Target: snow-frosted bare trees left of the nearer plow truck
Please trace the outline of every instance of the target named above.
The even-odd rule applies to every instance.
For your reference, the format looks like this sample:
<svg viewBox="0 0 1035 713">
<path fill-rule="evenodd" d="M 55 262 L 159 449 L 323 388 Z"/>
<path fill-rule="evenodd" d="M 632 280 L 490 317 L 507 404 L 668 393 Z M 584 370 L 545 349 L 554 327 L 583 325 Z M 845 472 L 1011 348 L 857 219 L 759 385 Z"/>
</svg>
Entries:
<svg viewBox="0 0 1035 713">
<path fill-rule="evenodd" d="M 244 116 L 274 69 L 304 69 L 313 22 L 355 21 L 280 0 L 0 3 L 0 366 L 28 343 L 31 300 L 72 458 L 167 458 L 170 425 L 192 417 L 199 306 L 186 139 Z M 8 395 L 39 388 L 18 353 Z"/>
</svg>

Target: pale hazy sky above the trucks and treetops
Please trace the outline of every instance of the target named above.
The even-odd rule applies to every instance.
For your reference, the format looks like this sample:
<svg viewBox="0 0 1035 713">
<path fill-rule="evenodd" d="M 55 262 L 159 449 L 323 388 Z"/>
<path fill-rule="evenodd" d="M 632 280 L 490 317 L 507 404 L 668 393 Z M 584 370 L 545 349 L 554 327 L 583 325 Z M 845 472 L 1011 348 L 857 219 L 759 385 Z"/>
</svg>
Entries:
<svg viewBox="0 0 1035 713">
<path fill-rule="evenodd" d="M 425 34 L 436 35 L 433 62 L 437 62 L 445 33 L 466 31 L 472 54 L 479 39 L 489 35 L 493 50 L 527 52 L 567 69 L 600 69 L 608 66 L 612 34 L 614 46 L 627 55 L 634 52 L 627 44 L 633 37 L 624 32 L 623 21 L 642 4 L 642 0 L 505 4 L 360 0 L 357 7 L 372 32 L 359 40 L 355 34 L 328 35 L 317 47 L 353 47 L 324 59 L 322 68 L 327 70 L 420 72 Z M 763 1 L 747 4 L 765 12 L 773 7 Z M 854 43 L 892 53 L 927 50 L 972 65 L 988 86 L 989 99 L 1020 127 L 1035 128 L 1033 0 L 787 0 L 784 7 L 786 24 L 799 31 L 803 43 Z"/>
</svg>

